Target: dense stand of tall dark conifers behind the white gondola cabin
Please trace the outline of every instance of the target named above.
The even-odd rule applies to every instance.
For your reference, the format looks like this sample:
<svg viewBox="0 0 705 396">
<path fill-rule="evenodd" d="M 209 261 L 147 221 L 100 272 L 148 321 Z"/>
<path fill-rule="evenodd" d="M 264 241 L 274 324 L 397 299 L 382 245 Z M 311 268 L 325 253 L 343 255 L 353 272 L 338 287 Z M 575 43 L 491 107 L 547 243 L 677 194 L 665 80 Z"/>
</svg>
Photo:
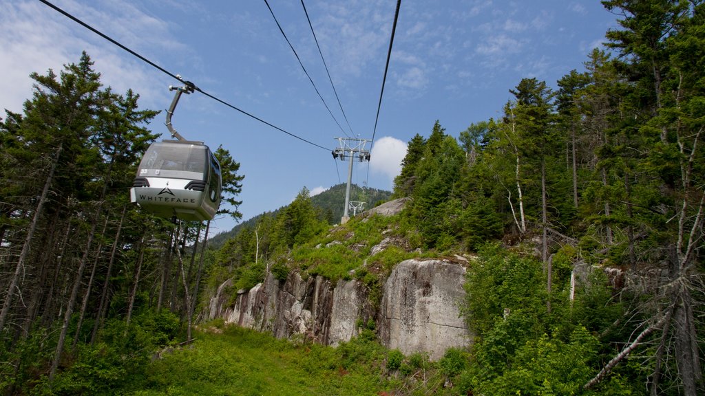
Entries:
<svg viewBox="0 0 705 396">
<path fill-rule="evenodd" d="M 92 392 L 81 383 L 103 375 L 114 378 L 109 389 L 141 371 L 180 323 L 190 337 L 208 261 L 198 241 L 208 224 L 171 223 L 130 204 L 158 112 L 140 110 L 132 91 L 103 87 L 92 64 L 84 53 L 58 74 L 32 73 L 23 113 L 6 111 L 0 123 L 0 388 L 7 394 L 49 383 L 59 393 Z M 240 164 L 222 147 L 215 154 L 232 205 L 223 212 L 239 218 Z M 97 351 L 109 373 L 75 364 Z"/>
</svg>

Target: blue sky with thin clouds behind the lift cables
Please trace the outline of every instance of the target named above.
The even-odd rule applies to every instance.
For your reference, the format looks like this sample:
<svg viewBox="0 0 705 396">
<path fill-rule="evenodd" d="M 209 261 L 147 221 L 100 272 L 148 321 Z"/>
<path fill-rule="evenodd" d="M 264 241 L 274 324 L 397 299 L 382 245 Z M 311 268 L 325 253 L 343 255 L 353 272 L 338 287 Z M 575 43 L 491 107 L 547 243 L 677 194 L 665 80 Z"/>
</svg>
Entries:
<svg viewBox="0 0 705 396">
<path fill-rule="evenodd" d="M 319 192 L 345 182 L 347 163 L 330 153 L 338 146 L 334 138 L 372 138 L 394 0 L 305 1 L 352 132 L 300 1 L 269 5 L 337 123 L 264 0 L 51 2 L 205 92 L 326 147 L 202 94 L 182 97 L 172 120 L 178 132 L 213 149 L 222 144 L 240 162 L 243 219 L 288 204 L 302 187 Z M 372 161 L 356 163 L 353 182 L 391 190 L 411 137 L 427 137 L 436 120 L 457 137 L 471 123 L 501 116 L 509 89 L 522 78 L 556 87 L 570 70 L 582 70 L 616 19 L 596 0 L 403 0 Z M 30 73 L 61 70 L 83 50 L 105 85 L 132 88 L 143 108 L 171 102 L 168 86 L 178 81 L 168 75 L 39 1 L 0 0 L 0 107 L 20 112 L 31 97 Z M 152 129 L 168 138 L 164 116 Z M 214 223 L 216 232 L 233 225 L 231 218 Z"/>
</svg>

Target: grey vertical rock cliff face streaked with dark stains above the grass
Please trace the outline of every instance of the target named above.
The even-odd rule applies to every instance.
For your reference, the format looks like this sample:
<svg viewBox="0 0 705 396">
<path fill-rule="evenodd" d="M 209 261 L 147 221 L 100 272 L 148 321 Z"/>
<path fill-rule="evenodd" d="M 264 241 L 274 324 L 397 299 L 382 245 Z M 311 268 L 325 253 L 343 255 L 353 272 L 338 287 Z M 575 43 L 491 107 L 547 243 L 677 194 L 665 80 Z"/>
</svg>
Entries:
<svg viewBox="0 0 705 396">
<path fill-rule="evenodd" d="M 462 347 L 470 340 L 458 309 L 465 295 L 464 279 L 465 268 L 457 262 L 403 261 L 384 285 L 379 311 L 369 302 L 366 285 L 357 280 L 333 284 L 290 273 L 281 282 L 270 274 L 264 283 L 238 292 L 231 306 L 228 280 L 211 299 L 209 318 L 325 345 L 350 340 L 362 330 L 358 326 L 372 318 L 386 347 L 439 359 L 449 347 Z"/>
</svg>

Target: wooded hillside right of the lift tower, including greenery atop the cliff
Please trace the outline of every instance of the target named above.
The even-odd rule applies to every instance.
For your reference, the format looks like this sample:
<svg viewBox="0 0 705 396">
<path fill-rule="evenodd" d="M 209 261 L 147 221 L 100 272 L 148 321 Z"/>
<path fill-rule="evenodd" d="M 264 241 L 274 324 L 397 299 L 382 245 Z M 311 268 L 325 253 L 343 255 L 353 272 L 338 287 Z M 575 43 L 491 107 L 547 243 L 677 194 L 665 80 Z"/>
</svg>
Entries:
<svg viewBox="0 0 705 396">
<path fill-rule="evenodd" d="M 476 338 L 455 378 L 461 392 L 704 390 L 705 8 L 603 4 L 621 28 L 607 32 L 608 50 L 592 51 L 582 71 L 567 70 L 556 89 L 522 79 L 500 118 L 457 137 L 437 120 L 428 137 L 408 143 L 394 197 L 410 201 L 388 225 L 406 251 L 381 260 L 415 249 L 478 252 L 464 307 Z M 309 205 L 300 199 L 294 207 Z M 354 222 L 309 245 L 290 239 L 291 256 L 259 256 L 236 237 L 219 253 L 219 279 L 246 289 L 262 281 L 254 275 L 265 265 L 280 279 L 288 271 L 349 278 L 356 268 L 374 290 L 385 273 L 356 249 L 379 237 L 361 241 L 355 227 L 368 226 Z M 355 235 L 353 251 L 314 248 L 344 233 Z M 487 245 L 494 241 L 503 247 Z M 255 269 L 258 257 L 269 264 Z"/>
</svg>

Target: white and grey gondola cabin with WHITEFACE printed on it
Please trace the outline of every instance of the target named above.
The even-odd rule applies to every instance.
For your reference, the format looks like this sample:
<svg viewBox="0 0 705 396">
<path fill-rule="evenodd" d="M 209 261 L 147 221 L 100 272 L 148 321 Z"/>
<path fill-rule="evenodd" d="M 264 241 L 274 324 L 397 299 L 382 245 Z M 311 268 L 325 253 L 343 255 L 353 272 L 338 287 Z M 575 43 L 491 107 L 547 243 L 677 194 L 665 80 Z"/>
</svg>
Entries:
<svg viewBox="0 0 705 396">
<path fill-rule="evenodd" d="M 140 161 L 130 201 L 155 216 L 211 220 L 220 206 L 221 168 L 202 142 L 154 142 Z"/>
</svg>

